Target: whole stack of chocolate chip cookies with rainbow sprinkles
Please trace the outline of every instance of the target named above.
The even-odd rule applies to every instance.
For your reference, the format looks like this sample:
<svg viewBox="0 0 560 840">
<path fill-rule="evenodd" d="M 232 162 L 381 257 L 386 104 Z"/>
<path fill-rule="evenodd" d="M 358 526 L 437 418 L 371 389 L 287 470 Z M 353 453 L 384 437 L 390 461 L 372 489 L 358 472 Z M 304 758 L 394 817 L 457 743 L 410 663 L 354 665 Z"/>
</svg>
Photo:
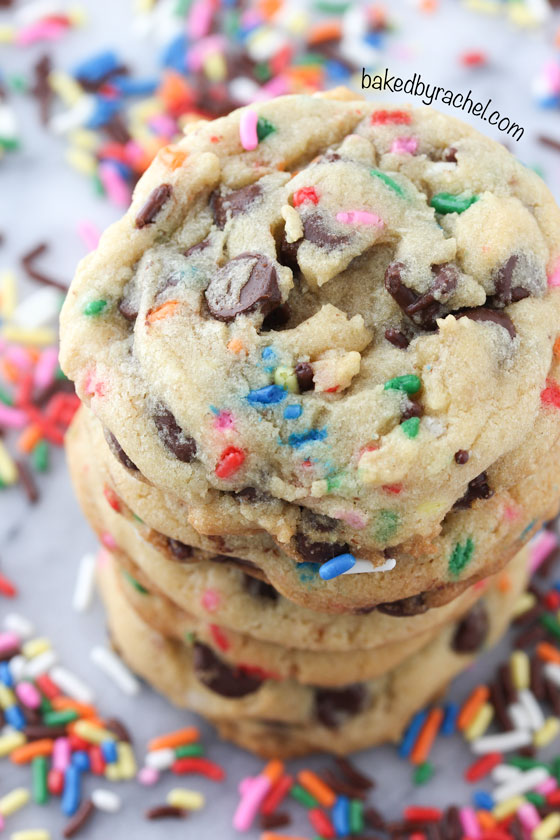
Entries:
<svg viewBox="0 0 560 840">
<path fill-rule="evenodd" d="M 263 755 L 398 738 L 557 512 L 559 255 L 539 177 L 429 108 L 290 96 L 162 149 L 62 313 L 131 667 Z"/>
</svg>

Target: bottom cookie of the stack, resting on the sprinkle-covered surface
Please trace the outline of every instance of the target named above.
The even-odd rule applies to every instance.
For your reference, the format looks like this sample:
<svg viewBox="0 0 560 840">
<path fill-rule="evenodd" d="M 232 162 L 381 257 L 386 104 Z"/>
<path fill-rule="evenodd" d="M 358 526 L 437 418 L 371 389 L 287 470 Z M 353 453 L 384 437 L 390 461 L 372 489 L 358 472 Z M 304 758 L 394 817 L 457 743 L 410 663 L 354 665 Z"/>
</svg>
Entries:
<svg viewBox="0 0 560 840">
<path fill-rule="evenodd" d="M 315 750 L 345 754 L 397 740 L 419 708 L 498 640 L 525 585 L 526 570 L 523 551 L 508 570 L 509 586 L 489 588 L 464 619 L 445 627 L 394 670 L 340 688 L 313 688 L 232 669 L 207 646 L 191 648 L 146 624 L 123 596 L 108 554 L 99 577 L 111 639 L 134 671 L 175 705 L 215 722 L 224 737 L 260 755 L 287 758 Z"/>
</svg>

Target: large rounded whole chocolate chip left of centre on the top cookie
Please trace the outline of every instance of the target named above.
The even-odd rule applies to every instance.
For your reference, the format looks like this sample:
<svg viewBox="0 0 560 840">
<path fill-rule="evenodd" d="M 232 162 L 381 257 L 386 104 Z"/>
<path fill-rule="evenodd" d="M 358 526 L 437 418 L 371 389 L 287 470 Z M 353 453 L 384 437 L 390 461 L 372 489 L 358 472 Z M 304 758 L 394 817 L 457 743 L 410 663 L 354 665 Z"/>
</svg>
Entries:
<svg viewBox="0 0 560 840">
<path fill-rule="evenodd" d="M 264 254 L 249 252 L 239 254 L 216 272 L 205 297 L 218 321 L 233 321 L 257 308 L 268 315 L 282 303 L 274 263 Z"/>
</svg>

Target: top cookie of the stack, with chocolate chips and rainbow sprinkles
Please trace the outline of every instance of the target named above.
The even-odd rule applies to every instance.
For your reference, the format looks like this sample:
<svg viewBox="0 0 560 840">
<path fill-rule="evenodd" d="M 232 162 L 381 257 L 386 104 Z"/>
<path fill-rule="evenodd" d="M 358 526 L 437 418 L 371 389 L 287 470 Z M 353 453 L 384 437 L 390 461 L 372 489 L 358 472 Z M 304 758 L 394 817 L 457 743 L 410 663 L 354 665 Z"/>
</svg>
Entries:
<svg viewBox="0 0 560 840">
<path fill-rule="evenodd" d="M 368 556 L 482 504 L 527 439 L 559 250 L 540 178 L 469 126 L 283 97 L 158 154 L 79 266 L 62 365 L 207 528 Z"/>
</svg>

